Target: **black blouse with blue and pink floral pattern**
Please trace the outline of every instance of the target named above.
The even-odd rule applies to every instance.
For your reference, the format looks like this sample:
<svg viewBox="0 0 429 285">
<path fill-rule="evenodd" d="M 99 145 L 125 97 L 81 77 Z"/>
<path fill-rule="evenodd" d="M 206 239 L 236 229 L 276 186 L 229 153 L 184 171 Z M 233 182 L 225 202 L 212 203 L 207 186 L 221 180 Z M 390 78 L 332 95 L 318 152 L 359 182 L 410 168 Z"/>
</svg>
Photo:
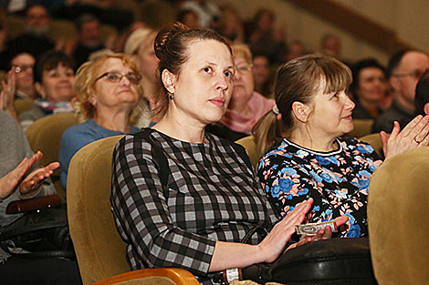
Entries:
<svg viewBox="0 0 429 285">
<path fill-rule="evenodd" d="M 356 138 L 337 138 L 339 148 L 315 152 L 288 139 L 259 161 L 257 176 L 281 217 L 313 198 L 307 222 L 349 217 L 340 237 L 368 235 L 366 205 L 371 175 L 382 160 Z"/>
</svg>

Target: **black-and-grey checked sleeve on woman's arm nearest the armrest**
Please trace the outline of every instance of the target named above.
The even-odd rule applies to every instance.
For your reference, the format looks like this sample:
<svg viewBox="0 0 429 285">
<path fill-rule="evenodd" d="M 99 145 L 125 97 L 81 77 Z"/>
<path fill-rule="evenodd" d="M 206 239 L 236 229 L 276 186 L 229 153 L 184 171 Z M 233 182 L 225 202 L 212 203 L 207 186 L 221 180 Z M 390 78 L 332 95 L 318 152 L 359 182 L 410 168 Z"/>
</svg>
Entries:
<svg viewBox="0 0 429 285">
<path fill-rule="evenodd" d="M 208 272 L 215 240 L 183 230 L 169 211 L 151 143 L 122 138 L 113 154 L 111 203 L 117 227 L 131 247 L 129 262 L 149 267 L 179 267 L 196 275 Z M 185 216 L 185 215 L 184 215 Z M 138 259 L 138 260 L 133 260 Z"/>
</svg>

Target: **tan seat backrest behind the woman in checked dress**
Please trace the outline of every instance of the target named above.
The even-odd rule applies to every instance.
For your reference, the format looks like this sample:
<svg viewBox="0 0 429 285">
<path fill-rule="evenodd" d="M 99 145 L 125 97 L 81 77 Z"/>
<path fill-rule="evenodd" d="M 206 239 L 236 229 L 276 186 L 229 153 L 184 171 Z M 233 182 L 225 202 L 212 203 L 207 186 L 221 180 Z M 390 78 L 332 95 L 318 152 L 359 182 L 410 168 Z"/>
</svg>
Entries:
<svg viewBox="0 0 429 285">
<path fill-rule="evenodd" d="M 84 284 L 130 270 L 110 210 L 111 159 L 120 137 L 80 148 L 68 168 L 68 225 Z"/>
</svg>

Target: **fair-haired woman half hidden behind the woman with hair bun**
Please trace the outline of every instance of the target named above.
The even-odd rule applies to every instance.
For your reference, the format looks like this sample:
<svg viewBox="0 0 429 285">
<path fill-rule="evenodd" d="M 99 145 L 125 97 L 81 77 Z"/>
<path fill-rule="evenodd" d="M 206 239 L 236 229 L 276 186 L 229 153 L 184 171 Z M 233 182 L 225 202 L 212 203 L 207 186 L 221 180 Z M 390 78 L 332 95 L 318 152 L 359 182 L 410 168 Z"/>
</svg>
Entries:
<svg viewBox="0 0 429 285">
<path fill-rule="evenodd" d="M 162 87 L 160 78 L 157 76 L 158 63 L 160 60 L 155 56 L 153 43 L 155 40 L 156 31 L 145 28 L 135 30 L 125 43 L 124 52 L 131 55 L 131 58 L 136 63 L 141 73 L 141 85 L 143 87 L 143 97 L 145 97 L 151 105 L 152 125 L 158 122 L 164 110 L 160 108 L 162 101 Z M 151 125 L 151 126 L 152 126 Z M 141 126 L 141 122 L 137 124 Z"/>
</svg>

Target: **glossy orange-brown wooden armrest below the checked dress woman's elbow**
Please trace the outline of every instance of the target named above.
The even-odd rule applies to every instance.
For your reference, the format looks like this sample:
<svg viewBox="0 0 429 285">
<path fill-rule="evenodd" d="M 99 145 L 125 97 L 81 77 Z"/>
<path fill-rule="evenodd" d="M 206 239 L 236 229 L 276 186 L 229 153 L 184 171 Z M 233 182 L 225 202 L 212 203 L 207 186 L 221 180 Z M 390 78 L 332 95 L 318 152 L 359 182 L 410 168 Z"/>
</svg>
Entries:
<svg viewBox="0 0 429 285">
<path fill-rule="evenodd" d="M 92 285 L 112 285 L 127 280 L 137 280 L 145 277 L 166 277 L 177 285 L 200 285 L 194 275 L 188 270 L 173 269 L 173 268 L 159 268 L 159 269 L 145 269 L 134 270 L 119 275 L 112 276 L 105 280 L 99 280 Z"/>
</svg>

